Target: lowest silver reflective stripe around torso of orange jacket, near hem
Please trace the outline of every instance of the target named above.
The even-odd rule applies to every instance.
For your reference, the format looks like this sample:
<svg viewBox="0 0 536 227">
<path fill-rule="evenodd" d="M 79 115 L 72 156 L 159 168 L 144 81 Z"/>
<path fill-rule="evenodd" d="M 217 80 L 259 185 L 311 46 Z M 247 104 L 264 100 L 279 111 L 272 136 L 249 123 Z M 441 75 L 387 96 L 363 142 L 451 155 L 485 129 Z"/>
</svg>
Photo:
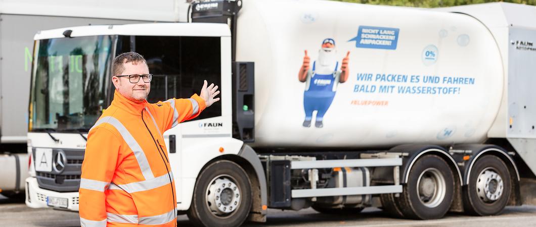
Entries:
<svg viewBox="0 0 536 227">
<path fill-rule="evenodd" d="M 108 222 L 144 224 L 144 225 L 161 225 L 166 224 L 175 219 L 176 209 L 173 208 L 169 212 L 160 215 L 138 217 L 138 215 L 112 214 L 106 213 Z M 105 222 L 106 224 L 106 222 Z"/>
</svg>

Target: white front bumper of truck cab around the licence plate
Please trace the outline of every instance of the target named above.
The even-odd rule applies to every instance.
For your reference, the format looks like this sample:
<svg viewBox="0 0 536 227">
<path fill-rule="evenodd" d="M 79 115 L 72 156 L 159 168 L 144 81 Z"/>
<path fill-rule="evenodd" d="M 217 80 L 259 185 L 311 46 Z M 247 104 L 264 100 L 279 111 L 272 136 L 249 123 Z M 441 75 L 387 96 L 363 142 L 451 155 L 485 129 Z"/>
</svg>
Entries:
<svg viewBox="0 0 536 227">
<path fill-rule="evenodd" d="M 56 208 L 47 205 L 49 196 L 68 199 L 68 207 L 59 209 L 78 211 L 78 192 L 55 192 L 41 189 L 37 178 L 26 178 L 26 206 L 31 208 Z"/>
</svg>

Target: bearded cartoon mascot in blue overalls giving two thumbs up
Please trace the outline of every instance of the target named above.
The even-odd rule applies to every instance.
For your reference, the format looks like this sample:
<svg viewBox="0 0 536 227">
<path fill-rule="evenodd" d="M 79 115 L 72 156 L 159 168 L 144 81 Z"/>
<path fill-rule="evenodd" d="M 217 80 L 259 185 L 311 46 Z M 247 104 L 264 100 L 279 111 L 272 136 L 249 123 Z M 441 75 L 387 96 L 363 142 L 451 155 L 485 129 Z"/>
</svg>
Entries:
<svg viewBox="0 0 536 227">
<path fill-rule="evenodd" d="M 306 84 L 303 92 L 303 108 L 305 110 L 303 127 L 311 127 L 312 112 L 314 111 L 316 111 L 315 127 L 322 128 L 324 126 L 322 120 L 335 97 L 337 85 L 348 79 L 350 51 L 346 53 L 343 64 L 340 65 L 340 71 L 336 54 L 335 41 L 332 38 L 326 38 L 322 41 L 322 48 L 318 51 L 318 59 L 312 62 L 311 68 L 310 58 L 307 56 L 307 50 L 305 51 L 303 64 L 298 74 L 300 82 Z"/>
</svg>

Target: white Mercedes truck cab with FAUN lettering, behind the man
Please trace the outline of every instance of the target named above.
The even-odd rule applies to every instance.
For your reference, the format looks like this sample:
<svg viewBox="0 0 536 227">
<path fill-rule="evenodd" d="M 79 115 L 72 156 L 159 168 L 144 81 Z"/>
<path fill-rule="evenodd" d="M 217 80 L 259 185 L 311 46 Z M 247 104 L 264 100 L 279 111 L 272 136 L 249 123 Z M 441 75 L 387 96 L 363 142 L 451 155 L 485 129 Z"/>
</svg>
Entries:
<svg viewBox="0 0 536 227">
<path fill-rule="evenodd" d="M 87 130 L 113 98 L 111 59 L 143 51 L 153 76 L 148 101 L 189 97 L 203 80 L 231 89 L 229 27 L 222 24 L 84 26 L 35 35 L 27 179 L 29 207 L 78 210 L 78 185 Z M 153 54 L 151 54 L 151 52 Z M 97 89 L 95 89 L 97 88 Z M 165 132 L 177 189 L 187 209 L 196 177 L 209 160 L 237 154 L 232 138 L 231 93 L 188 122 Z M 210 139 L 209 139 L 210 138 Z M 188 157 L 184 159 L 183 157 Z"/>
</svg>

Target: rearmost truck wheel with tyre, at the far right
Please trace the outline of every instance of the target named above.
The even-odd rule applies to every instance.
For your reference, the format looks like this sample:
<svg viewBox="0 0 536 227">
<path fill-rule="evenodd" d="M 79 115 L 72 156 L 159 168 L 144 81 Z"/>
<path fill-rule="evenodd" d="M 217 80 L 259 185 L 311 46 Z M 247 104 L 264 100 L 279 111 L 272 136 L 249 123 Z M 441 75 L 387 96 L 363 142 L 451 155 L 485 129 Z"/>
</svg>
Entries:
<svg viewBox="0 0 536 227">
<path fill-rule="evenodd" d="M 479 158 L 463 189 L 464 209 L 473 215 L 494 215 L 510 198 L 510 173 L 504 162 L 494 155 Z"/>
</svg>

